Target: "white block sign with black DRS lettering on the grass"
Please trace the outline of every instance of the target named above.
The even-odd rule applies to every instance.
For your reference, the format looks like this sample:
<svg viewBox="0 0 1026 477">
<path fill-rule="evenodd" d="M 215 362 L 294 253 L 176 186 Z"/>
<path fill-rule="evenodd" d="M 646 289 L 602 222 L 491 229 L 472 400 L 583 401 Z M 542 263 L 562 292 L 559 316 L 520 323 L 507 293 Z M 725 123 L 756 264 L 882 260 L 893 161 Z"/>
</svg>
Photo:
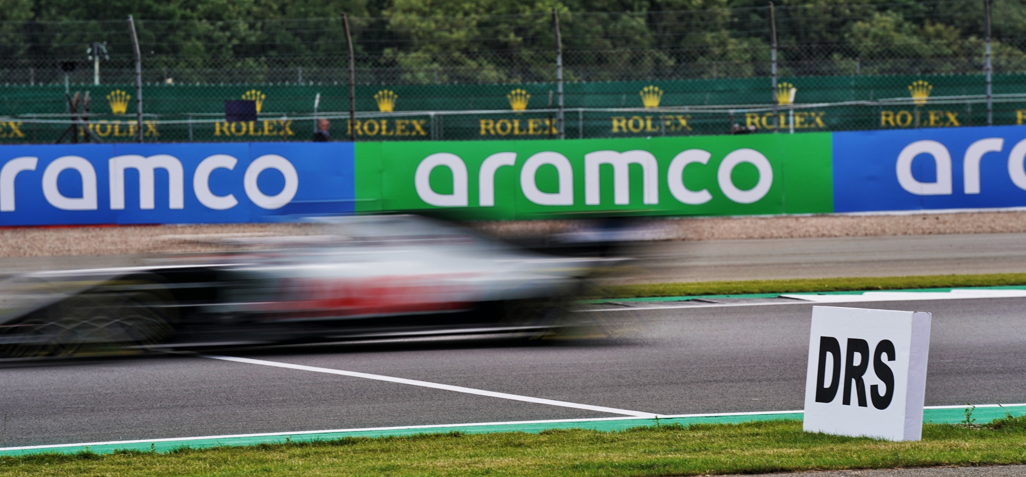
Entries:
<svg viewBox="0 0 1026 477">
<path fill-rule="evenodd" d="M 817 306 L 804 430 L 919 440 L 930 313 Z"/>
</svg>

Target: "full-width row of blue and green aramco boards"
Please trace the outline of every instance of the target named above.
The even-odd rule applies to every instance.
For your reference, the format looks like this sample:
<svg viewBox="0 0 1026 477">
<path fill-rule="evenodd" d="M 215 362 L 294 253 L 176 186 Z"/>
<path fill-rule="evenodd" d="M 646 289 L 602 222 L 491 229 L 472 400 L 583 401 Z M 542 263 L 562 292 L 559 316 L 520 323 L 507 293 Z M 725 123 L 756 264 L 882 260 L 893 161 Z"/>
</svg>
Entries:
<svg viewBox="0 0 1026 477">
<path fill-rule="evenodd" d="M 0 226 L 1026 207 L 1026 128 L 0 146 Z"/>
</svg>

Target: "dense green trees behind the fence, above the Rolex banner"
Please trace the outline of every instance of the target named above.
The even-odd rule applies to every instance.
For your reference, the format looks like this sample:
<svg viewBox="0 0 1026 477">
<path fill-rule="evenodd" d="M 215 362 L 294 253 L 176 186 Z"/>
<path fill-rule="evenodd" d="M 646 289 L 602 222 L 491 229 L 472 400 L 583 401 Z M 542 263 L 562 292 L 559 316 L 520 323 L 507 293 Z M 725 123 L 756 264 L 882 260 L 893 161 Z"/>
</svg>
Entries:
<svg viewBox="0 0 1026 477">
<path fill-rule="evenodd" d="M 245 82 L 259 83 L 278 81 L 276 71 L 305 68 L 311 78 L 320 72 L 323 81 L 338 79 L 346 68 L 340 16 L 349 13 L 360 83 L 552 81 L 554 9 L 568 81 L 742 78 L 768 74 L 767 3 L 0 0 L 0 55 L 52 69 L 54 61 L 81 60 L 88 43 L 108 41 L 112 61 L 128 68 L 124 18 L 133 14 L 147 72 L 173 70 L 180 82 L 233 82 L 244 75 Z M 1026 0 L 994 2 L 993 17 L 995 72 L 1022 71 Z M 783 0 L 776 18 L 781 75 L 965 74 L 982 68 L 978 0 Z"/>
</svg>

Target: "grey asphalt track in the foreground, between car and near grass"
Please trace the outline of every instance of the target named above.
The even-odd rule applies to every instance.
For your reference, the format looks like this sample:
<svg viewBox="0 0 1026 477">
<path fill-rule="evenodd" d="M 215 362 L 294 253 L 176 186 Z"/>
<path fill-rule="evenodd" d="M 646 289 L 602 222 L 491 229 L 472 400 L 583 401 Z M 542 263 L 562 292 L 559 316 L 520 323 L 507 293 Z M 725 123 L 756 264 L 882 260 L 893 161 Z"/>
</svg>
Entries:
<svg viewBox="0 0 1026 477">
<path fill-rule="evenodd" d="M 1026 299 L 934 313 L 926 405 L 1026 401 Z M 219 354 L 663 415 L 800 409 L 811 304 L 600 312 L 625 337 L 348 343 Z M 0 363 L 5 446 L 619 415 L 187 355 Z"/>
</svg>

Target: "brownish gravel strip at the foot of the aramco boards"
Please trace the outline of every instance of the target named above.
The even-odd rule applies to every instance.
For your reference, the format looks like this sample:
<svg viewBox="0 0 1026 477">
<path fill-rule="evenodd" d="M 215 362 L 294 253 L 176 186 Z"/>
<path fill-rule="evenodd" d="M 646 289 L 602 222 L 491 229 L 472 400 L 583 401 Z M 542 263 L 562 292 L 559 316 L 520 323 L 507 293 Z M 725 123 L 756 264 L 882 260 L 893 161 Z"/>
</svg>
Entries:
<svg viewBox="0 0 1026 477">
<path fill-rule="evenodd" d="M 568 220 L 471 222 L 501 237 L 570 230 Z M 1026 232 L 1026 211 L 907 215 L 814 215 L 652 219 L 656 238 L 716 241 L 822 236 Z M 0 257 L 213 252 L 219 238 L 317 234 L 312 224 L 62 226 L 0 228 Z"/>
</svg>

